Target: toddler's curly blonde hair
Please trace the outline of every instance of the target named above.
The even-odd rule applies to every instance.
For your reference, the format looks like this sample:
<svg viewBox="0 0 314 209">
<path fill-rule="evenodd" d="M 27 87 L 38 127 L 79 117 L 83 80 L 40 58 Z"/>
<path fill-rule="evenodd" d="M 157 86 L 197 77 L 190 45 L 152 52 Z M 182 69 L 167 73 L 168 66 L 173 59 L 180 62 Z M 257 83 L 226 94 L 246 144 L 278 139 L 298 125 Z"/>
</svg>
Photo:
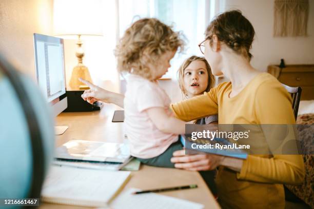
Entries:
<svg viewBox="0 0 314 209">
<path fill-rule="evenodd" d="M 139 19 L 125 31 L 115 48 L 117 70 L 152 80 L 152 69 L 148 65 L 156 65 L 165 52 L 178 49 L 180 52 L 184 49 L 180 32 L 174 32 L 155 18 Z"/>
</svg>

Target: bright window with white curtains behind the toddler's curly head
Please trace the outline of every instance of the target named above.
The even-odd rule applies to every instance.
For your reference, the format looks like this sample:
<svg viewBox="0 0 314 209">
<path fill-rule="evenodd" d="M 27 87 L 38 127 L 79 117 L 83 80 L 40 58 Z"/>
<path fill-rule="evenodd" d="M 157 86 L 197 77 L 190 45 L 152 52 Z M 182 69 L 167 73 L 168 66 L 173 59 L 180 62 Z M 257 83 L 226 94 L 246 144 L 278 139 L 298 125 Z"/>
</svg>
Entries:
<svg viewBox="0 0 314 209">
<path fill-rule="evenodd" d="M 216 0 L 217 1 L 217 0 Z M 171 68 L 164 77 L 176 82 L 176 71 L 183 60 L 191 55 L 202 56 L 198 44 L 204 39 L 206 24 L 209 23 L 209 0 L 111 0 L 103 1 L 103 32 L 104 36 L 85 40 L 84 64 L 89 68 L 93 82 L 111 91 L 121 91 L 119 74 L 116 71 L 116 59 L 113 50 L 119 38 L 136 20 L 144 17 L 156 17 L 167 25 L 172 25 L 174 31 L 182 31 L 186 37 L 186 48 L 183 54 L 177 53 L 171 60 Z M 210 5 L 212 7 L 212 5 Z M 207 21 L 206 21 L 207 20 Z M 67 60 L 67 77 L 70 76 L 77 59 L 73 56 L 75 42 L 68 50 L 71 60 Z M 174 90 L 173 90 L 174 91 Z M 178 90 L 179 91 L 179 90 Z M 122 90 L 123 92 L 123 90 Z M 179 91 L 180 92 L 180 91 Z M 171 93 L 170 93 L 171 94 Z M 173 95 L 178 94 L 175 90 Z M 170 95 L 171 96 L 171 95 Z"/>
</svg>

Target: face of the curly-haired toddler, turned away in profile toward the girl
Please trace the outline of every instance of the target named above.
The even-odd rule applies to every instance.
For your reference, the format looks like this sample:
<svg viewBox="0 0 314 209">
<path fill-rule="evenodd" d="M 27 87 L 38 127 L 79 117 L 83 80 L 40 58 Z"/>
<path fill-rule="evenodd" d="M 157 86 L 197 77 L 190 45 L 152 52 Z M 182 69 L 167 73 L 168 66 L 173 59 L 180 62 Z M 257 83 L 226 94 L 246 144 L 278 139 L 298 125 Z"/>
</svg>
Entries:
<svg viewBox="0 0 314 209">
<path fill-rule="evenodd" d="M 168 68 L 171 67 L 170 60 L 174 57 L 175 51 L 168 51 L 162 54 L 157 64 L 152 67 L 154 69 L 154 80 L 161 78 L 168 72 Z"/>
</svg>

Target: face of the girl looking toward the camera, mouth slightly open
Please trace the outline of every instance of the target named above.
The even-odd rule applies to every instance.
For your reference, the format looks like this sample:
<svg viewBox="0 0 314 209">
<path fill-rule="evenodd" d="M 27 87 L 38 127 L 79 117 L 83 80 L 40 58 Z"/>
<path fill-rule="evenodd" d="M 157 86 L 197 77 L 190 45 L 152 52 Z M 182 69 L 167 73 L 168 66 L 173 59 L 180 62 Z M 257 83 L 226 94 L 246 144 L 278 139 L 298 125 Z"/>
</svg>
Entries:
<svg viewBox="0 0 314 209">
<path fill-rule="evenodd" d="M 202 60 L 194 60 L 186 67 L 183 75 L 184 88 L 189 98 L 203 94 L 208 86 L 208 72 Z"/>
</svg>

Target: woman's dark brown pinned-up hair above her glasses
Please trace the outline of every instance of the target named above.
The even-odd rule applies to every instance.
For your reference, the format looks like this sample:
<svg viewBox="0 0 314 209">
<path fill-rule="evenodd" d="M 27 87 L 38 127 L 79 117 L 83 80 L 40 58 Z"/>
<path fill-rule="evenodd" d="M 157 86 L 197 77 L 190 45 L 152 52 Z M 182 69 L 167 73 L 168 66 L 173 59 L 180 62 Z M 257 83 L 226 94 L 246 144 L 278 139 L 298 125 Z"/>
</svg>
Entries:
<svg viewBox="0 0 314 209">
<path fill-rule="evenodd" d="M 207 27 L 205 36 L 210 39 L 212 35 L 230 47 L 234 52 L 251 59 L 250 49 L 254 38 L 254 28 L 240 10 L 231 10 L 215 17 Z"/>
</svg>

